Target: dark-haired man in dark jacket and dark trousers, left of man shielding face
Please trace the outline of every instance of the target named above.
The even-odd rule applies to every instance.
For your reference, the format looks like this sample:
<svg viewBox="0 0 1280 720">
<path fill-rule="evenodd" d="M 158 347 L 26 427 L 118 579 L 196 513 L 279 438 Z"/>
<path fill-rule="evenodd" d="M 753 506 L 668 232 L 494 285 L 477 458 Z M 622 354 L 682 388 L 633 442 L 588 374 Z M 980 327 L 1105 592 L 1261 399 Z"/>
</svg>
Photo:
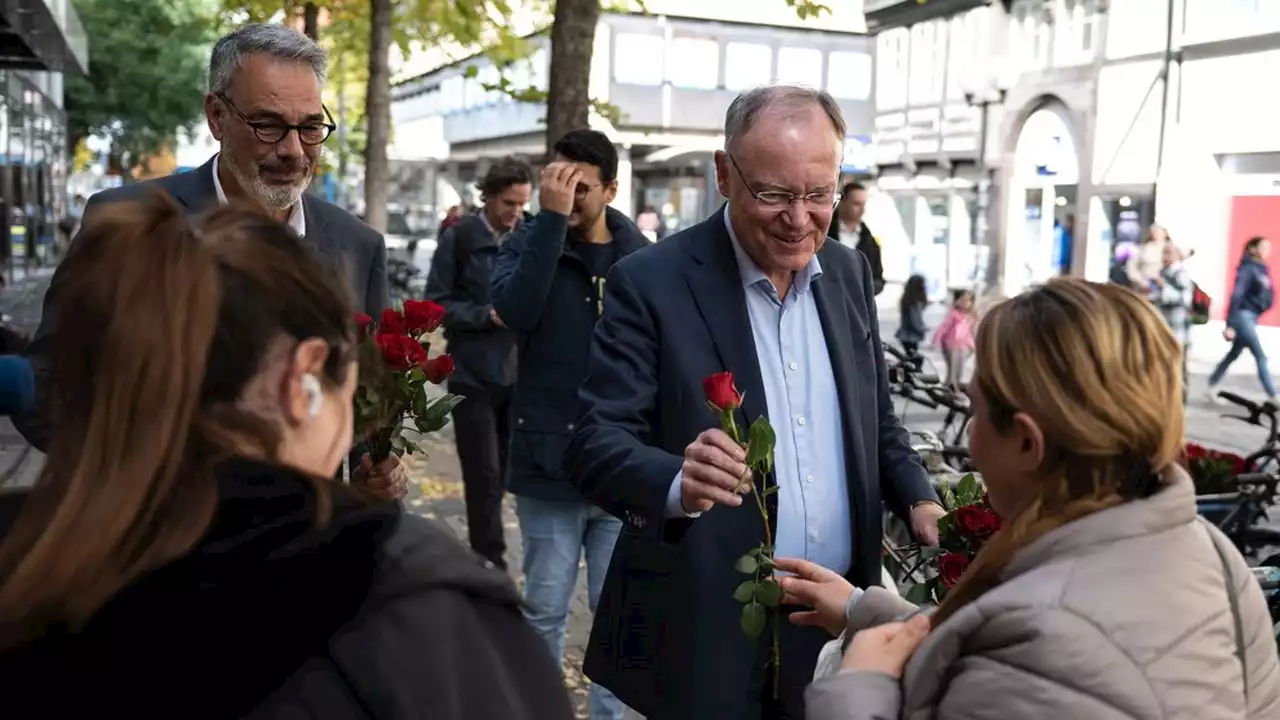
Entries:
<svg viewBox="0 0 1280 720">
<path fill-rule="evenodd" d="M 456 363 L 449 392 L 463 397 L 453 409 L 453 433 L 471 548 L 503 569 L 502 482 L 516 336 L 493 310 L 489 278 L 502 238 L 520 224 L 532 183 L 532 169 L 522 160 L 507 158 L 489 168 L 479 183 L 484 208 L 440 236 L 426 279 L 426 299 L 444 306 L 444 338 Z"/>
</svg>

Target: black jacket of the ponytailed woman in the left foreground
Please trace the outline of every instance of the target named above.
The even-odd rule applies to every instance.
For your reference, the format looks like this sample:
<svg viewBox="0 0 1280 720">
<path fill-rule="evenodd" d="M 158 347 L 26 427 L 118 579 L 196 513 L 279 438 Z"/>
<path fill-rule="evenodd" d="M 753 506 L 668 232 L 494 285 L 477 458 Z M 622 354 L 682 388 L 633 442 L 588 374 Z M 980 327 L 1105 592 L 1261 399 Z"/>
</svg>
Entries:
<svg viewBox="0 0 1280 720">
<path fill-rule="evenodd" d="M 516 587 L 448 530 L 340 486 L 316 529 L 311 483 L 250 461 L 218 492 L 189 553 L 0 653 L 5 717 L 572 717 Z"/>
</svg>

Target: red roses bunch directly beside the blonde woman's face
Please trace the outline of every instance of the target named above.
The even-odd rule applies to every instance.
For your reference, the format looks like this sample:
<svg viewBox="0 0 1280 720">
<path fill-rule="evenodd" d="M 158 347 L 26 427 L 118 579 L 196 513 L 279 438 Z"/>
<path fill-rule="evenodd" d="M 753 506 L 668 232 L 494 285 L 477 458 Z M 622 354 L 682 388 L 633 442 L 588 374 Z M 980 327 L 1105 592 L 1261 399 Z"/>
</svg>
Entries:
<svg viewBox="0 0 1280 720">
<path fill-rule="evenodd" d="M 915 577 L 918 570 L 925 571 L 924 582 L 906 591 L 906 600 L 916 605 L 942 602 L 982 546 L 1001 527 L 1000 515 L 992 510 L 982 484 L 972 473 L 960 478 L 954 489 L 950 483 L 941 483 L 938 497 L 947 510 L 938 520 L 938 547 L 916 547 L 904 559 L 906 564 L 914 560 L 906 577 Z"/>
</svg>

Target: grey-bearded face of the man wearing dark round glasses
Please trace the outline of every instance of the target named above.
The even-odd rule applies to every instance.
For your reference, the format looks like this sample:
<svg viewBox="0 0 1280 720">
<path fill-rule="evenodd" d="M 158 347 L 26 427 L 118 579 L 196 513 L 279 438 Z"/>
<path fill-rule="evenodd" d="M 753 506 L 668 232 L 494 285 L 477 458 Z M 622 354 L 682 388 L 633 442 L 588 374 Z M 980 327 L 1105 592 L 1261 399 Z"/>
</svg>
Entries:
<svg viewBox="0 0 1280 720">
<path fill-rule="evenodd" d="M 219 168 L 268 210 L 292 208 L 311 183 L 320 145 L 303 143 L 293 131 L 278 142 L 259 135 L 328 122 L 315 70 L 306 63 L 248 55 L 221 95 L 205 97 L 209 129 L 220 143 Z"/>
</svg>

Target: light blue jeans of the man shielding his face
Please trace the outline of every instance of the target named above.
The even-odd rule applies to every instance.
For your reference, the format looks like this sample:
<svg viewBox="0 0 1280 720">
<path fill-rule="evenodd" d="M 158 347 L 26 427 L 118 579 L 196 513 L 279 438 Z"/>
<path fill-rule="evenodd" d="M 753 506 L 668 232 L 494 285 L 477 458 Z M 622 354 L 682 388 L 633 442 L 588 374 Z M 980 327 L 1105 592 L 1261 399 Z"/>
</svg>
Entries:
<svg viewBox="0 0 1280 720">
<path fill-rule="evenodd" d="M 586 501 L 526 496 L 516 496 L 516 516 L 525 543 L 525 618 L 559 665 L 579 561 L 585 552 L 588 606 L 594 614 L 622 521 Z M 591 720 L 622 720 L 625 706 L 593 684 L 588 710 Z"/>
</svg>

